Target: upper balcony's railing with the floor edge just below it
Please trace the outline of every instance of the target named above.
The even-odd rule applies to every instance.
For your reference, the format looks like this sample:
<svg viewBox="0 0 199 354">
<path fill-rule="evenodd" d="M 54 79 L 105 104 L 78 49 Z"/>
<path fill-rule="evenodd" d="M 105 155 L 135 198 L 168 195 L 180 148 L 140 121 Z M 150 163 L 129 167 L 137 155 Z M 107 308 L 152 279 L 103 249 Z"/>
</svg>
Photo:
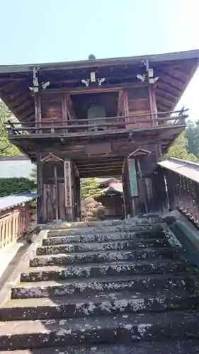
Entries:
<svg viewBox="0 0 199 354">
<path fill-rule="evenodd" d="M 49 122 L 8 122 L 8 137 L 15 139 L 63 138 L 66 142 L 76 139 L 118 139 L 146 133 L 174 129 L 176 134 L 186 126 L 188 109 L 171 112 L 120 115 L 117 117 L 57 120 Z"/>
</svg>

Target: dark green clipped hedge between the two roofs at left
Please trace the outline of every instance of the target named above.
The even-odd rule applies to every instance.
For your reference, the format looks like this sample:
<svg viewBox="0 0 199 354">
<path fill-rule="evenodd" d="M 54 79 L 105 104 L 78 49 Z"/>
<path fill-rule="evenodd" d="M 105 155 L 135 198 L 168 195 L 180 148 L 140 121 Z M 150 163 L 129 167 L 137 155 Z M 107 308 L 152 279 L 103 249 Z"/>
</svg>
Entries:
<svg viewBox="0 0 199 354">
<path fill-rule="evenodd" d="M 28 178 L 0 178 L 0 197 L 35 190 L 35 181 Z"/>
</svg>

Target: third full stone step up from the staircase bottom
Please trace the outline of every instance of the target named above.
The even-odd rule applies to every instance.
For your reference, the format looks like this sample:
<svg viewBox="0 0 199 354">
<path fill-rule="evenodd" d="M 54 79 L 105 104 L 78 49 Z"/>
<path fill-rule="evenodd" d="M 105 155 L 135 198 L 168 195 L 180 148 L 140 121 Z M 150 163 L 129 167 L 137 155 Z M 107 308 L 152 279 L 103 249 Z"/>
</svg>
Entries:
<svg viewBox="0 0 199 354">
<path fill-rule="evenodd" d="M 89 296 L 101 292 L 115 292 L 131 290 L 134 292 L 159 291 L 159 290 L 189 289 L 193 292 L 194 282 L 188 275 L 153 274 L 153 275 L 130 275 L 130 277 L 106 277 L 91 280 L 82 279 L 76 282 L 69 280 L 28 282 L 11 287 L 12 299 L 26 299 L 37 297 L 56 296 Z"/>
</svg>

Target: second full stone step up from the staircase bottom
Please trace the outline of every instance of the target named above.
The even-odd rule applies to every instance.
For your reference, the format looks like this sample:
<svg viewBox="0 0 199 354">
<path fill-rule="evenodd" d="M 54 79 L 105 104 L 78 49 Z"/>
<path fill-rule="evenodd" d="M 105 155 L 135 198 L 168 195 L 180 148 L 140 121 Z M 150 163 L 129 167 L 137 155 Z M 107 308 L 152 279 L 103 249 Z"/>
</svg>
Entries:
<svg viewBox="0 0 199 354">
<path fill-rule="evenodd" d="M 10 300 L 0 309 L 1 321 L 37 319 L 65 319 L 84 316 L 103 316 L 131 312 L 164 312 L 169 310 L 196 309 L 199 295 L 187 291 L 158 293 L 105 292 L 89 297 L 52 297 L 51 299 Z"/>
</svg>

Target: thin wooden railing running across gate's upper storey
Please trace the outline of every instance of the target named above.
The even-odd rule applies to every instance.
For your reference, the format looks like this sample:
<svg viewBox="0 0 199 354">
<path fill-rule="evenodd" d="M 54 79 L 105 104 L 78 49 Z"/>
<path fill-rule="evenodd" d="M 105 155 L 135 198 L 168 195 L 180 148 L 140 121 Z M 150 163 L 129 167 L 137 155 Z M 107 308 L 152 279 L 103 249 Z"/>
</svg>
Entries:
<svg viewBox="0 0 199 354">
<path fill-rule="evenodd" d="M 90 118 L 85 120 L 56 120 L 49 122 L 20 122 L 8 126 L 8 134 L 12 135 L 28 135 L 28 134 L 59 134 L 59 133 L 75 133 L 75 132 L 96 132 L 98 130 L 115 130 L 137 128 L 149 128 L 158 125 L 183 125 L 188 118 L 186 110 L 176 110 L 160 113 L 145 113 L 137 115 L 123 115 L 117 117 L 106 118 Z"/>
</svg>

